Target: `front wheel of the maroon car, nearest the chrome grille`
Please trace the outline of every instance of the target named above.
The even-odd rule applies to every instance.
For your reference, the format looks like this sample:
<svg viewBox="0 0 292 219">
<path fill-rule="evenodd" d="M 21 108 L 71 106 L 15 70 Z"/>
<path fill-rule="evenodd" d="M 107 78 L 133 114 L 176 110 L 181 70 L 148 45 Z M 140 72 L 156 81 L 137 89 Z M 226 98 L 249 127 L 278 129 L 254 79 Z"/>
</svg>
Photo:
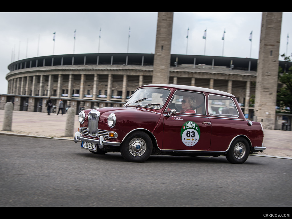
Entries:
<svg viewBox="0 0 292 219">
<path fill-rule="evenodd" d="M 121 144 L 122 157 L 129 162 L 144 162 L 152 153 L 152 140 L 145 132 L 136 131 L 128 135 Z"/>
</svg>

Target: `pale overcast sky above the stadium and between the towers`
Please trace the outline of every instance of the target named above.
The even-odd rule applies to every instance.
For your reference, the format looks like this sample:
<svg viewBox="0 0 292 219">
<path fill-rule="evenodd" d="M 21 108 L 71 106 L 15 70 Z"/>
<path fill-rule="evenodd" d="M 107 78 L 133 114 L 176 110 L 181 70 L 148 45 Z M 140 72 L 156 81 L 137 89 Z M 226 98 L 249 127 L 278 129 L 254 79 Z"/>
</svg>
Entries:
<svg viewBox="0 0 292 219">
<path fill-rule="evenodd" d="M 7 93 L 5 77 L 11 62 L 36 56 L 74 53 L 154 53 L 157 12 L 0 13 L 0 93 Z M 171 54 L 258 58 L 261 12 L 175 12 Z M 287 34 L 292 36 L 292 13 L 283 12 L 280 54 L 286 53 Z M 187 29 L 189 28 L 188 40 Z M 249 36 L 252 31 L 252 42 Z M 38 46 L 39 42 L 39 46 Z M 188 44 L 187 44 L 188 42 Z M 288 55 L 292 52 L 292 40 Z M 187 46 L 188 45 L 188 46 Z M 251 48 L 252 46 L 252 48 Z M 282 60 L 279 57 L 279 60 Z"/>
</svg>

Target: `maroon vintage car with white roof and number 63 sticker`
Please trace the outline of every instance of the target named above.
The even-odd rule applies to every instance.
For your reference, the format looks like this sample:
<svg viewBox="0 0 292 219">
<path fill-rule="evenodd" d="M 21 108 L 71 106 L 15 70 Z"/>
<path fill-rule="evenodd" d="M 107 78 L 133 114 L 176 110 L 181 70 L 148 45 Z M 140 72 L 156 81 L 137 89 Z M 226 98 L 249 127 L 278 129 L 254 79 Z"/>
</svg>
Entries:
<svg viewBox="0 0 292 219">
<path fill-rule="evenodd" d="M 242 164 L 263 152 L 263 127 L 246 120 L 234 95 L 208 88 L 150 84 L 123 107 L 79 113 L 74 142 L 94 154 L 121 152 L 130 162 L 150 155 L 225 155 Z"/>
</svg>

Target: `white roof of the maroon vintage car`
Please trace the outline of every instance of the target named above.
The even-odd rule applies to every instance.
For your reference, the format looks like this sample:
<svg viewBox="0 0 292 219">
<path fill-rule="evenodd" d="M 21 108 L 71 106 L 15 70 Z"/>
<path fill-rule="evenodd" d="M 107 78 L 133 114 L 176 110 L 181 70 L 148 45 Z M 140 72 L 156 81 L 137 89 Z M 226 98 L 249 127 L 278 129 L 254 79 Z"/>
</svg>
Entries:
<svg viewBox="0 0 292 219">
<path fill-rule="evenodd" d="M 210 88 L 203 88 L 203 87 L 195 87 L 195 86 L 188 86 L 188 85 L 178 85 L 178 84 L 147 84 L 143 85 L 141 87 L 166 87 L 166 88 L 177 88 L 180 90 L 189 90 L 189 91 L 198 91 L 198 92 L 204 92 L 204 93 L 214 93 L 218 95 L 225 95 L 230 97 L 235 97 L 231 93 L 227 93 L 224 91 L 218 91 Z"/>
</svg>

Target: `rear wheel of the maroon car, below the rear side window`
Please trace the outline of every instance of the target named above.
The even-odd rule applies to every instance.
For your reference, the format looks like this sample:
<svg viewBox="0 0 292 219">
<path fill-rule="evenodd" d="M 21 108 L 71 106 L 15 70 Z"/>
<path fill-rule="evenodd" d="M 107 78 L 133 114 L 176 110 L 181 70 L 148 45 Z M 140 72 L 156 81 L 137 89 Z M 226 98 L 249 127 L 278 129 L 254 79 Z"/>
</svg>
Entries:
<svg viewBox="0 0 292 219">
<path fill-rule="evenodd" d="M 226 159 L 232 164 L 243 164 L 248 158 L 249 144 L 244 138 L 237 138 L 232 142 L 226 154 Z"/>
</svg>

